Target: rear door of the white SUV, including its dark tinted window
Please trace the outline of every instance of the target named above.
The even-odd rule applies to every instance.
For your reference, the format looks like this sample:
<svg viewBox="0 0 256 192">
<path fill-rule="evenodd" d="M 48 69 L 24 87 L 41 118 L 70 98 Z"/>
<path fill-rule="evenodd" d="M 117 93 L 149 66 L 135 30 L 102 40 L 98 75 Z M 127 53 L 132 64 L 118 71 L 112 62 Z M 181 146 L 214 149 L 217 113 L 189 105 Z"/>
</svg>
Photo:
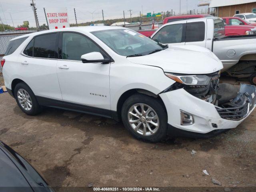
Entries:
<svg viewBox="0 0 256 192">
<path fill-rule="evenodd" d="M 19 75 L 36 96 L 61 100 L 56 73 L 58 33 L 35 36 L 18 57 Z"/>
</svg>

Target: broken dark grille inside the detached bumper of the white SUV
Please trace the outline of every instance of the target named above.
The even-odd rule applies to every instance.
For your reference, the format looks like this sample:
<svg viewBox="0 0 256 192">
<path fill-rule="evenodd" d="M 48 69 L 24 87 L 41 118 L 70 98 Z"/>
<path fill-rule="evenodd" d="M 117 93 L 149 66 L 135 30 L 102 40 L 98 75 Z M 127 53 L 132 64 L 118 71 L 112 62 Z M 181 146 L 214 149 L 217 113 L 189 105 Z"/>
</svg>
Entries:
<svg viewBox="0 0 256 192">
<path fill-rule="evenodd" d="M 242 99 L 243 97 L 243 99 Z M 240 102 L 229 102 L 222 105 L 222 108 L 216 106 L 217 112 L 220 114 L 220 117 L 227 120 L 241 120 L 246 116 L 248 112 L 248 103 L 249 99 L 243 95 L 240 99 Z M 244 100 L 241 105 L 241 101 Z"/>
</svg>

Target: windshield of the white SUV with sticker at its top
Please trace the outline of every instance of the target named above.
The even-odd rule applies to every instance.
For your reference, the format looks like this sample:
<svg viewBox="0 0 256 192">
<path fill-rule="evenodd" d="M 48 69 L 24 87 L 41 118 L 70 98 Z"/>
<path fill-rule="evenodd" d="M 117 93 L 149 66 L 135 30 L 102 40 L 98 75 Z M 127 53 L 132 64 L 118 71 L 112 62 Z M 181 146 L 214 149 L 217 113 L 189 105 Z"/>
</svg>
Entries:
<svg viewBox="0 0 256 192">
<path fill-rule="evenodd" d="M 91 33 L 122 56 L 143 56 L 164 49 L 163 45 L 126 28 Z"/>
</svg>

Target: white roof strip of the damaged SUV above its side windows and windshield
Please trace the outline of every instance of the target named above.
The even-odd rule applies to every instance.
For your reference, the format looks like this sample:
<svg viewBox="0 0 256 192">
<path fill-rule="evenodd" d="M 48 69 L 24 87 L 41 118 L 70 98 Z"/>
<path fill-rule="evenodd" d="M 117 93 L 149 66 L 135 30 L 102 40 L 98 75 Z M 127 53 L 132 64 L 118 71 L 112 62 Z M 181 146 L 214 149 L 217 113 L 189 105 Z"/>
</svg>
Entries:
<svg viewBox="0 0 256 192">
<path fill-rule="evenodd" d="M 101 30 L 110 30 L 110 29 L 124 29 L 123 27 L 119 26 L 80 26 L 80 27 L 68 27 L 68 28 L 61 28 L 61 29 L 51 29 L 51 30 L 44 30 L 34 33 L 25 34 L 22 36 L 18 36 L 16 38 L 13 38 L 12 40 L 16 40 L 19 38 L 29 37 L 29 36 L 36 36 L 46 33 L 52 33 L 52 32 L 62 32 L 62 31 L 71 31 L 71 32 L 93 32 L 93 31 L 101 31 Z"/>
</svg>

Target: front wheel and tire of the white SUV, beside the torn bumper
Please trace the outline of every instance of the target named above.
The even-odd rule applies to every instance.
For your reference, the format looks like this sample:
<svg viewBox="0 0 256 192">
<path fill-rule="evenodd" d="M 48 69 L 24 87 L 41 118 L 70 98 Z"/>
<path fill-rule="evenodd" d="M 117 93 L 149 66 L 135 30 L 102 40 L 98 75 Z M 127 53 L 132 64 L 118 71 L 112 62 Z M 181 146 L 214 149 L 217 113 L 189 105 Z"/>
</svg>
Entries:
<svg viewBox="0 0 256 192">
<path fill-rule="evenodd" d="M 144 94 L 134 94 L 123 104 L 122 121 L 137 139 L 159 142 L 166 137 L 167 113 L 157 99 Z"/>
</svg>

